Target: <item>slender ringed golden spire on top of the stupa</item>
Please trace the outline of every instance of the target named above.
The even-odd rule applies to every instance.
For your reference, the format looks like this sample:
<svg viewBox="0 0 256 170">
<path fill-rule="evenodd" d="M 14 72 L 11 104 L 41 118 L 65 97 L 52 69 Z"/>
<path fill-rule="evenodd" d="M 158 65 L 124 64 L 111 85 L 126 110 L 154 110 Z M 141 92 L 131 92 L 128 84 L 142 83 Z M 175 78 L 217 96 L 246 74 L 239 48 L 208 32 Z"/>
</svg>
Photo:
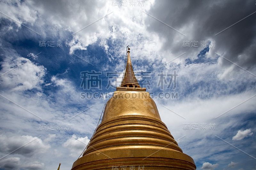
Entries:
<svg viewBox="0 0 256 170">
<path fill-rule="evenodd" d="M 130 48 L 128 48 L 130 50 Z M 140 85 L 135 77 L 135 74 L 132 69 L 132 62 L 130 57 L 130 51 L 127 51 L 128 57 L 127 57 L 127 63 L 126 63 L 126 69 L 124 73 L 124 79 L 121 83 L 120 87 L 136 87 L 140 88 Z"/>
</svg>

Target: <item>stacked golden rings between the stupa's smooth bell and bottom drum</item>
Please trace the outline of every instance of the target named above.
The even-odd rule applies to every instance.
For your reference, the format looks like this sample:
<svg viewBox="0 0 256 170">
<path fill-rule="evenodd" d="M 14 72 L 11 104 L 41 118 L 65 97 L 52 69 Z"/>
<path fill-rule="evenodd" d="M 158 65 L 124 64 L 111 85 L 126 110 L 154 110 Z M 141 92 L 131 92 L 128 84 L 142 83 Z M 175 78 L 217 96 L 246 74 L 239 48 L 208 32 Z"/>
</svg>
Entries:
<svg viewBox="0 0 256 170">
<path fill-rule="evenodd" d="M 123 115 L 105 121 L 97 128 L 84 152 L 107 151 L 126 148 L 152 148 L 182 152 L 168 129 L 157 119 L 141 115 Z"/>
</svg>

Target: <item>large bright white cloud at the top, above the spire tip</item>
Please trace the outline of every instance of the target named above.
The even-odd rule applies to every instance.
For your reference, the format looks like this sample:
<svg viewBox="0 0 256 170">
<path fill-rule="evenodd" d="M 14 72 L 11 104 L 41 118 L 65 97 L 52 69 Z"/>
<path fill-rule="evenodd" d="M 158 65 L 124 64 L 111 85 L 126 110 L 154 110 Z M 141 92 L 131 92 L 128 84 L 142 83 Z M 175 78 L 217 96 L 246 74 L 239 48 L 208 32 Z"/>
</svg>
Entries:
<svg viewBox="0 0 256 170">
<path fill-rule="evenodd" d="M 154 0 L 146 1 L 143 6 L 136 4 L 130 8 L 120 5 L 112 6 L 111 3 L 111 1 L 94 1 L 93 3 L 62 1 L 61 7 L 59 3 L 52 1 L 28 1 L 26 4 L 36 9 L 40 18 L 47 18 L 59 28 L 68 29 L 73 33 L 88 26 L 73 35 L 73 39 L 69 42 L 69 54 L 73 54 L 76 49 L 86 49 L 89 44 L 96 41 L 99 41 L 100 46 L 108 49 L 107 40 L 111 38 L 122 39 L 125 46 L 130 44 L 134 54 L 155 58 L 154 53 L 160 50 L 163 41 L 157 34 L 146 31 L 145 18 L 148 16 L 142 12 L 150 9 Z M 109 13 L 111 14 L 102 18 Z M 100 20 L 97 21 L 98 19 Z M 120 49 L 115 50 L 120 51 Z"/>
</svg>

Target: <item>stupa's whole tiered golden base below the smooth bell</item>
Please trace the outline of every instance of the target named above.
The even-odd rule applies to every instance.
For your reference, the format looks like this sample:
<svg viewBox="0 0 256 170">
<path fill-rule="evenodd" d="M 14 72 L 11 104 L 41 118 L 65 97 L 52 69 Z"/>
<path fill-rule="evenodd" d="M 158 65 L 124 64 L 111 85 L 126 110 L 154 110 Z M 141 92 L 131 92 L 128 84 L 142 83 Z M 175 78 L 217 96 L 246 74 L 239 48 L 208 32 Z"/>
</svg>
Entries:
<svg viewBox="0 0 256 170">
<path fill-rule="evenodd" d="M 165 124 L 143 115 L 123 115 L 102 122 L 83 155 L 72 170 L 196 169 Z"/>
</svg>

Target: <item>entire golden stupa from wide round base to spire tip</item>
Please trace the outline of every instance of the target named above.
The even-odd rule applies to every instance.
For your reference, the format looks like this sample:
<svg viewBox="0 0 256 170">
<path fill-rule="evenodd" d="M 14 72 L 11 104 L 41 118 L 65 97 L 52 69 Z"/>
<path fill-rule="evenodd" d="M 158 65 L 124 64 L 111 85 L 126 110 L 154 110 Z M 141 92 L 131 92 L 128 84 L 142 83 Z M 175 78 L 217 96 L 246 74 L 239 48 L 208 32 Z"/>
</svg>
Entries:
<svg viewBox="0 0 256 170">
<path fill-rule="evenodd" d="M 71 170 L 195 170 L 194 160 L 182 152 L 154 100 L 140 87 L 127 53 L 121 86 L 108 100 L 100 125 Z"/>
</svg>

